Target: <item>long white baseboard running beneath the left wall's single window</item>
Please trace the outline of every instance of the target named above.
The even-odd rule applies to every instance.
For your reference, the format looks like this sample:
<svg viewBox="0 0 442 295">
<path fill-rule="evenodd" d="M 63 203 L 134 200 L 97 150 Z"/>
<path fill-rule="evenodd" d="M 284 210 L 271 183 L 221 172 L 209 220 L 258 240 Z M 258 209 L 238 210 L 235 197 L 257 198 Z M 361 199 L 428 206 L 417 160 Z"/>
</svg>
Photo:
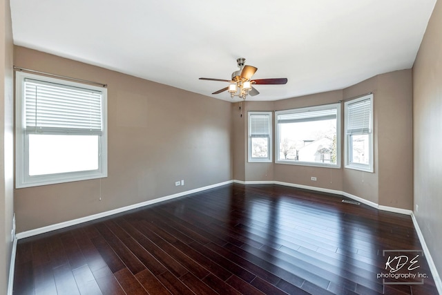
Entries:
<svg viewBox="0 0 442 295">
<path fill-rule="evenodd" d="M 60 222 L 60 223 L 57 223 L 55 225 L 48 225 L 47 227 L 40 227 L 38 229 L 31 229 L 29 231 L 22 231 L 21 233 L 16 234 L 16 238 L 18 240 L 20 240 L 22 238 L 29 238 L 30 236 L 37 236 L 39 234 L 44 234 L 44 233 L 47 233 L 49 231 L 55 231 L 57 229 L 63 229 L 65 227 L 70 227 L 72 225 L 79 225 L 80 223 L 83 223 L 83 222 L 88 222 L 88 221 L 91 221 L 91 220 L 95 220 L 95 219 L 111 216 L 111 215 L 114 215 L 114 214 L 117 214 L 117 213 L 122 213 L 124 211 L 129 211 L 129 210 L 132 210 L 132 209 L 137 209 L 137 208 L 144 207 L 144 206 L 147 206 L 147 205 L 150 205 L 150 204 L 155 204 L 157 202 L 164 202 L 166 200 L 171 200 L 171 199 L 174 199 L 174 198 L 179 198 L 179 197 L 182 197 L 182 196 L 189 195 L 191 193 L 198 193 L 200 191 L 205 191 L 207 189 L 213 189 L 215 187 L 220 187 L 220 186 L 225 185 L 225 184 L 231 184 L 232 182 L 233 182 L 233 180 L 229 180 L 229 181 L 226 181 L 226 182 L 220 182 L 220 183 L 217 183 L 217 184 L 211 184 L 211 185 L 208 185 L 206 187 L 200 187 L 198 189 L 191 189 L 190 191 L 182 191 L 181 193 L 175 193 L 175 194 L 170 195 L 170 196 L 164 196 L 164 197 L 161 197 L 161 198 L 156 198 L 156 199 L 153 199 L 153 200 L 148 200 L 146 202 L 132 204 L 132 205 L 129 205 L 129 206 L 126 206 L 126 207 L 117 208 L 117 209 L 113 209 L 113 210 L 110 210 L 110 211 L 106 211 L 106 212 L 102 212 L 102 213 L 97 213 L 97 214 L 93 214 L 93 215 L 82 217 L 82 218 L 77 218 L 77 219 L 74 219 L 74 220 L 68 220 L 68 221 L 65 221 L 65 222 Z"/>
</svg>

